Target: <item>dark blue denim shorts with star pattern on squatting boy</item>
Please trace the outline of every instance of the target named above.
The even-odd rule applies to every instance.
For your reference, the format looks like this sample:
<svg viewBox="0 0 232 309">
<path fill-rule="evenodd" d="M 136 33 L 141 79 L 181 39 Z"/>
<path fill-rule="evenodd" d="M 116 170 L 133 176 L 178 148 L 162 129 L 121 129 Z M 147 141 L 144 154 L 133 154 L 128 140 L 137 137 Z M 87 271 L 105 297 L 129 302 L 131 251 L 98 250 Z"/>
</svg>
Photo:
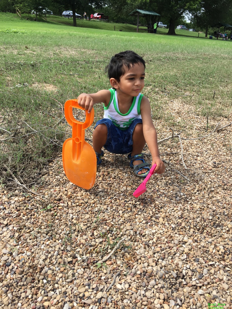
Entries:
<svg viewBox="0 0 232 309">
<path fill-rule="evenodd" d="M 131 153 L 133 146 L 132 134 L 135 125 L 142 123 L 142 119 L 135 119 L 125 131 L 118 129 L 110 119 L 105 118 L 98 120 L 94 129 L 102 123 L 107 126 L 108 130 L 104 148 L 113 154 L 124 155 Z"/>
</svg>

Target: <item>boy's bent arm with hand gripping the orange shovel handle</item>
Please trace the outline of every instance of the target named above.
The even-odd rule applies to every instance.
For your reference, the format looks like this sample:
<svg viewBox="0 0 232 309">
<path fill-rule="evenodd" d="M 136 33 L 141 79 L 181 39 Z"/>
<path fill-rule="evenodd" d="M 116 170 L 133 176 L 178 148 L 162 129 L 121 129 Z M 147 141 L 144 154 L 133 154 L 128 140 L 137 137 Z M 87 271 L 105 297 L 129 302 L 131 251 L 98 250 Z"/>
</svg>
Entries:
<svg viewBox="0 0 232 309">
<path fill-rule="evenodd" d="M 82 93 L 77 99 L 78 104 L 90 113 L 93 105 L 96 103 L 104 103 L 107 105 L 110 102 L 110 96 L 110 90 L 100 90 L 96 93 Z"/>
</svg>

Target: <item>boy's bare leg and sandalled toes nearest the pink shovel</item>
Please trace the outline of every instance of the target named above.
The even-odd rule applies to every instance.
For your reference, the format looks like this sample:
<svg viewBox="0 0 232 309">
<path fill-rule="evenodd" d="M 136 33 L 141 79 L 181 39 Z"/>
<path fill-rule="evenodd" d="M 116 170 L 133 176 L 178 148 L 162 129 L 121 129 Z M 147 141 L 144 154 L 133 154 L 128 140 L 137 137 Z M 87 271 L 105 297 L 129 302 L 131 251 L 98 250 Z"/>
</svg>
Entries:
<svg viewBox="0 0 232 309">
<path fill-rule="evenodd" d="M 143 124 L 142 123 L 138 123 L 137 125 L 135 125 L 135 128 L 133 130 L 133 134 L 132 134 L 132 141 L 133 141 L 133 146 L 132 146 L 132 152 L 131 152 L 131 156 L 133 155 L 138 155 L 141 152 L 143 152 L 144 146 L 146 144 L 145 138 L 144 138 L 144 133 L 143 133 Z M 133 161 L 132 164 L 133 165 L 137 165 L 137 164 L 141 164 L 143 163 L 143 161 L 141 160 L 136 160 Z M 143 168 L 141 171 L 138 172 L 138 174 L 144 174 L 148 171 L 147 168 Z"/>
</svg>

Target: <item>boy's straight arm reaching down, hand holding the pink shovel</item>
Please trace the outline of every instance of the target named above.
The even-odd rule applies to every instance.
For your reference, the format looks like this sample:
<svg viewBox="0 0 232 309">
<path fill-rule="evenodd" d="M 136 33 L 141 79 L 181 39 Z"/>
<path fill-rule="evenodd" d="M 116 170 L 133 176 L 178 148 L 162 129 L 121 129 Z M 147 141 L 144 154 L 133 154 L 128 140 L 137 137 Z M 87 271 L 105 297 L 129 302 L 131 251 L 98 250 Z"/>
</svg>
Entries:
<svg viewBox="0 0 232 309">
<path fill-rule="evenodd" d="M 157 143 L 157 133 L 152 122 L 151 106 L 148 98 L 143 96 L 140 104 L 140 112 L 143 121 L 143 133 L 145 141 L 152 155 L 152 165 L 157 164 L 155 172 L 157 174 L 164 173 L 165 165 L 160 159 L 159 147 Z"/>
</svg>

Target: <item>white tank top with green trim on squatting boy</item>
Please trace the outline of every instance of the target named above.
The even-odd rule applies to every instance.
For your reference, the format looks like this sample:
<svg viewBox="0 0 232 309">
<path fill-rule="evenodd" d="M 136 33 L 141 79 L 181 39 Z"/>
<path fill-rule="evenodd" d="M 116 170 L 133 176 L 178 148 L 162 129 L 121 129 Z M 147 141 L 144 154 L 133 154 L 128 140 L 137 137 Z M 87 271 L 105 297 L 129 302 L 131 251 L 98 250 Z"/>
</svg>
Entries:
<svg viewBox="0 0 232 309">
<path fill-rule="evenodd" d="M 141 119 L 140 103 L 143 95 L 139 93 L 138 96 L 133 98 L 133 102 L 129 111 L 126 114 L 122 114 L 118 109 L 117 91 L 115 89 L 109 89 L 111 93 L 110 103 L 104 106 L 104 117 L 110 119 L 114 125 L 121 130 L 126 130 L 135 119 Z"/>
</svg>

